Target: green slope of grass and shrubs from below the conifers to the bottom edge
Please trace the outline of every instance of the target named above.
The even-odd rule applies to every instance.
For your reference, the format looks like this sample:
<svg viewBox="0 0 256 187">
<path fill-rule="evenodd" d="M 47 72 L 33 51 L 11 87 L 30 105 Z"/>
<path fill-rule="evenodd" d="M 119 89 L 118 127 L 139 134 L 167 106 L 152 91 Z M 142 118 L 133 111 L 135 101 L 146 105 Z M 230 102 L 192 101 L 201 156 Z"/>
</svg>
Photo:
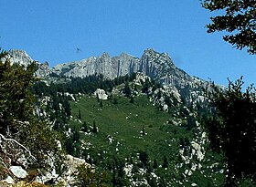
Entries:
<svg viewBox="0 0 256 187">
<path fill-rule="evenodd" d="M 140 181 L 144 178 L 148 178 L 150 186 L 179 186 L 179 182 L 184 182 L 185 186 L 192 183 L 215 186 L 223 182 L 223 175 L 219 174 L 221 167 L 216 169 L 216 173 L 209 174 L 209 178 L 204 177 L 208 174 L 208 164 L 219 159 L 216 155 L 212 161 L 201 161 L 201 171 L 193 171 L 191 176 L 183 174 L 191 167 L 192 161 L 182 166 L 180 150 L 187 151 L 187 154 L 192 151 L 191 141 L 197 130 L 174 125 L 171 121 L 176 119 L 172 119 L 170 113 L 157 109 L 148 96 L 137 96 L 131 103 L 121 95 L 114 95 L 112 100 L 83 95 L 78 101 L 71 102 L 71 111 L 70 127 L 80 139 L 71 153 L 86 158 L 98 170 L 109 173 L 110 182 L 113 178 L 119 179 L 115 186 L 132 185 L 131 182 L 143 186 Z M 97 132 L 93 132 L 93 126 L 94 129 L 97 127 Z M 113 168 L 116 164 L 119 166 Z M 133 165 L 132 176 L 124 172 L 120 174 L 129 164 Z M 119 171 L 116 177 L 111 174 L 114 170 Z"/>
</svg>

